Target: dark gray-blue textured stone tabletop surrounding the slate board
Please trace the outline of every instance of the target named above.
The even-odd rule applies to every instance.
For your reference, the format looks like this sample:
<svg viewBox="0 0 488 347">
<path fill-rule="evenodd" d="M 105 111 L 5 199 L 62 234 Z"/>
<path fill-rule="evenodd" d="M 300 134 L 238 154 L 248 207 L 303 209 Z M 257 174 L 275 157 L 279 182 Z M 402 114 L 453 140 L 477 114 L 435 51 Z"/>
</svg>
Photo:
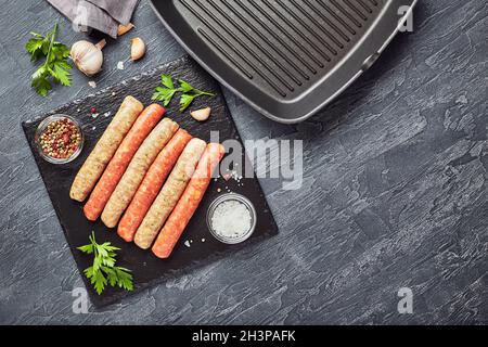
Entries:
<svg viewBox="0 0 488 347">
<path fill-rule="evenodd" d="M 262 180 L 280 234 L 89 314 L 72 312 L 81 278 L 26 145 L 21 120 L 92 90 L 40 98 L 29 88 L 29 30 L 55 21 L 44 1 L 0 0 L 0 323 L 488 323 L 488 3 L 420 1 L 367 75 L 321 115 L 281 126 L 226 93 L 244 139 L 305 140 L 296 192 Z M 170 61 L 182 49 L 142 0 L 137 35 L 105 50 L 99 88 Z M 397 291 L 414 314 L 397 312 Z"/>
</svg>

